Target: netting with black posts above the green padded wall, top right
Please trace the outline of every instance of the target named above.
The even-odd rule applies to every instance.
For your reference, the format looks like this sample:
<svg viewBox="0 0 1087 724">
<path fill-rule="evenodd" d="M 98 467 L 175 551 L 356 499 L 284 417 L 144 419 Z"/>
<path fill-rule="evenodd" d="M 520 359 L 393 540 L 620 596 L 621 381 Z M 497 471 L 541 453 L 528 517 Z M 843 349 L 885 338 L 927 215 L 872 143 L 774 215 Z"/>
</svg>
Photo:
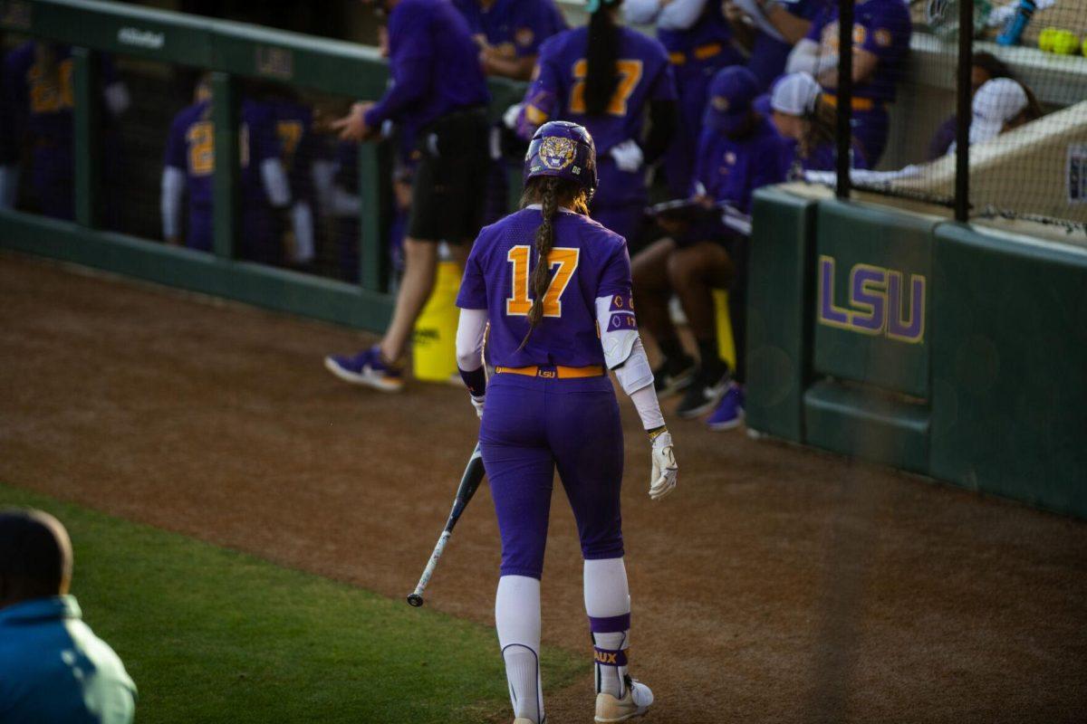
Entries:
<svg viewBox="0 0 1087 724">
<path fill-rule="evenodd" d="M 1087 239 L 1087 2 L 847 0 L 830 16 L 836 67 L 816 77 L 852 170 L 809 180 Z"/>
</svg>

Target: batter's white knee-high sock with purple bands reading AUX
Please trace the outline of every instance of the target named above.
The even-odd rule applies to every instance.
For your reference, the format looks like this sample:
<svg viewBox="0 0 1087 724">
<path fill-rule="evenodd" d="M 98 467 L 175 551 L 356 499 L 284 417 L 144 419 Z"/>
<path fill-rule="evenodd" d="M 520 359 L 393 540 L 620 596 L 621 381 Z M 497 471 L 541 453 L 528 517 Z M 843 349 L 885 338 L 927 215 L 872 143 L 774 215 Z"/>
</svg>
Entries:
<svg viewBox="0 0 1087 724">
<path fill-rule="evenodd" d="M 585 561 L 585 612 L 592 632 L 597 693 L 622 698 L 630 646 L 630 589 L 622 558 Z"/>
</svg>

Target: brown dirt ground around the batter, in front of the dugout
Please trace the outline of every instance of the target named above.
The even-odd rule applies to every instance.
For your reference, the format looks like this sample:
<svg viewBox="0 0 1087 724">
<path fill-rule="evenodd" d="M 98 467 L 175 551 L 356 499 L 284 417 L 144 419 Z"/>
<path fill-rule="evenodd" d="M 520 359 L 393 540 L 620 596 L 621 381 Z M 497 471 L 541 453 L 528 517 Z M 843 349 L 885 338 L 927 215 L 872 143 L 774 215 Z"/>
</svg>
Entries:
<svg viewBox="0 0 1087 724">
<path fill-rule="evenodd" d="M 476 423 L 459 390 L 380 395 L 322 369 L 358 343 L 0 255 L 0 480 L 402 597 Z M 623 415 L 648 721 L 1083 721 L 1087 524 L 678 420 L 680 490 L 651 504 L 647 446 Z M 559 492 L 552 521 L 545 639 L 585 650 L 586 676 L 548 691 L 548 720 L 590 722 Z M 497 542 L 484 488 L 428 606 L 492 621 Z"/>
</svg>

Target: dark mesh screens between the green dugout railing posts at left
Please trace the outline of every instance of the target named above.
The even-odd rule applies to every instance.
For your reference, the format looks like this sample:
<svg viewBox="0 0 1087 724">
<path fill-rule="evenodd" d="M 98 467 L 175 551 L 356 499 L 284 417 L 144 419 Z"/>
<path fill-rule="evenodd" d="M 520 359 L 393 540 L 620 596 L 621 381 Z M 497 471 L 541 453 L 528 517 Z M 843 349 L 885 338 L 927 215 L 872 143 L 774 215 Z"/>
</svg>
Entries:
<svg viewBox="0 0 1087 724">
<path fill-rule="evenodd" d="M 66 45 L 3 39 L 3 203 L 65 220 L 77 216 L 73 53 Z M 213 252 L 214 176 L 223 162 L 213 74 L 107 53 L 95 53 L 90 67 L 98 97 L 90 142 L 101 150 L 93 226 Z M 328 127 L 351 99 L 266 80 L 233 82 L 235 256 L 358 281 L 359 147 Z"/>
</svg>

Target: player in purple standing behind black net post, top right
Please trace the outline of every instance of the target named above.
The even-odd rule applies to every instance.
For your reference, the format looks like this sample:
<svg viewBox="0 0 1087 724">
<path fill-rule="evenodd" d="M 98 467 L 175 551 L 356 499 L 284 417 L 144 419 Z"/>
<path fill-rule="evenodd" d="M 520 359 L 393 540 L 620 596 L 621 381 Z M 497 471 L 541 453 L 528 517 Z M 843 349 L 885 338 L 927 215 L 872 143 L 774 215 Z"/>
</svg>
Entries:
<svg viewBox="0 0 1087 724">
<path fill-rule="evenodd" d="M 853 20 L 853 135 L 870 166 L 879 163 L 887 145 L 887 104 L 905 71 L 913 33 L 903 0 L 858 0 Z M 807 37 L 789 54 L 790 73 L 811 73 L 836 104 L 838 87 L 838 5 L 830 3 L 812 23 Z"/>
</svg>

